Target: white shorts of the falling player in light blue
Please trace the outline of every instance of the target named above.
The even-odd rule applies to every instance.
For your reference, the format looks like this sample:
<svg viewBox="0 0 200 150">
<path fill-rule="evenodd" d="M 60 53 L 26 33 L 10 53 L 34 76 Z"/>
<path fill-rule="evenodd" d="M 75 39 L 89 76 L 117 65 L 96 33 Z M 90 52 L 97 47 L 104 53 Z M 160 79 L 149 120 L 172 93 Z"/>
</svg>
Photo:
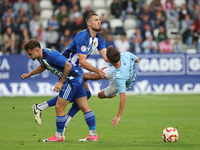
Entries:
<svg viewBox="0 0 200 150">
<path fill-rule="evenodd" d="M 109 83 L 109 86 L 105 88 L 105 96 L 110 97 L 118 93 L 118 88 L 117 84 L 115 82 L 115 72 L 114 72 L 114 67 L 107 67 L 106 69 L 103 70 L 105 72 L 106 80 Z"/>
</svg>

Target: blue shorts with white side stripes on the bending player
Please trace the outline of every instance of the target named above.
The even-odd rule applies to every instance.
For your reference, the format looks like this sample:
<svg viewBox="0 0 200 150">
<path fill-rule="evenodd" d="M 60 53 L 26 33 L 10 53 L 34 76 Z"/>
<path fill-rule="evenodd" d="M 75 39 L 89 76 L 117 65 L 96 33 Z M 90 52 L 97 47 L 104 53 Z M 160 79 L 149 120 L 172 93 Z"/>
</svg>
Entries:
<svg viewBox="0 0 200 150">
<path fill-rule="evenodd" d="M 72 80 L 66 80 L 63 87 L 59 93 L 59 96 L 65 100 L 73 102 L 79 97 L 86 96 L 86 92 L 83 84 L 83 77 L 76 77 Z"/>
</svg>

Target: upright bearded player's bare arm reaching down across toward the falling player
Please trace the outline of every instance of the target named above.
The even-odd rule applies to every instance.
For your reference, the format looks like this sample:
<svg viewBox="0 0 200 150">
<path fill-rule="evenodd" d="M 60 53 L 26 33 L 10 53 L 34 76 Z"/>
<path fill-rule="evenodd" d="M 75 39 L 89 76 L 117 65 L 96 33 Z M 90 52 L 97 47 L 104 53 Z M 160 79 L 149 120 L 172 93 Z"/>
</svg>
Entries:
<svg viewBox="0 0 200 150">
<path fill-rule="evenodd" d="M 80 64 L 80 66 L 89 70 L 89 71 L 92 71 L 92 72 L 99 74 L 101 76 L 101 78 L 103 79 L 105 77 L 105 73 L 101 69 L 93 67 L 90 63 L 88 63 L 86 61 L 86 58 L 87 58 L 87 55 L 79 53 L 79 64 Z"/>
</svg>

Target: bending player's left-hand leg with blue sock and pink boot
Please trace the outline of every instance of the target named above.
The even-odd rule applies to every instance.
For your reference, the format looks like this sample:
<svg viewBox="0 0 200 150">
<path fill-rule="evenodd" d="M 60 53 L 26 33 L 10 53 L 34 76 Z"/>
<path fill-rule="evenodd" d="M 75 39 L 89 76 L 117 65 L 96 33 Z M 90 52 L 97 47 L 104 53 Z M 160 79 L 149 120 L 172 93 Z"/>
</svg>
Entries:
<svg viewBox="0 0 200 150">
<path fill-rule="evenodd" d="M 57 130 L 54 136 L 44 139 L 43 142 L 62 142 L 65 140 L 63 135 L 63 130 L 65 126 L 65 122 L 67 120 L 66 114 L 65 114 L 65 107 L 69 103 L 69 100 L 65 100 L 58 96 L 57 103 L 55 105 L 56 110 L 56 126 Z"/>
</svg>

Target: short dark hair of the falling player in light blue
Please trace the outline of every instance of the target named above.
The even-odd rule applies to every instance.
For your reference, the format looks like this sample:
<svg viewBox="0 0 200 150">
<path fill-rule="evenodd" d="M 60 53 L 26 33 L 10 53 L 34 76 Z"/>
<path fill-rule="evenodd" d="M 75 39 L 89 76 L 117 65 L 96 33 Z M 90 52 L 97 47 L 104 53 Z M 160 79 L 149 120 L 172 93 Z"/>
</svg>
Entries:
<svg viewBox="0 0 200 150">
<path fill-rule="evenodd" d="M 107 48 L 106 56 L 112 63 L 117 63 L 120 60 L 120 52 L 113 46 Z"/>
</svg>

